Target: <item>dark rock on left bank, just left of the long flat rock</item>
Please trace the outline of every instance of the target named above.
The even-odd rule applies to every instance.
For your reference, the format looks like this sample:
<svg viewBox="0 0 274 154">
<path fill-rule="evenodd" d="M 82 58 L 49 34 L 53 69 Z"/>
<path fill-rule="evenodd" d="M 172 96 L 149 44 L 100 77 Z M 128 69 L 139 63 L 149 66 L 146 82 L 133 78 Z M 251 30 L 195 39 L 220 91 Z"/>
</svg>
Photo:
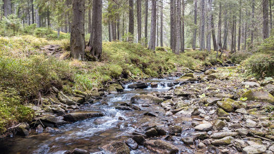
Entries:
<svg viewBox="0 0 274 154">
<path fill-rule="evenodd" d="M 40 123 L 40 121 L 42 123 Z M 66 121 L 56 118 L 54 115 L 44 115 L 44 117 L 41 117 L 40 120 L 36 122 L 37 125 L 43 124 L 44 127 L 59 127 L 61 125 L 67 124 Z"/>
</svg>

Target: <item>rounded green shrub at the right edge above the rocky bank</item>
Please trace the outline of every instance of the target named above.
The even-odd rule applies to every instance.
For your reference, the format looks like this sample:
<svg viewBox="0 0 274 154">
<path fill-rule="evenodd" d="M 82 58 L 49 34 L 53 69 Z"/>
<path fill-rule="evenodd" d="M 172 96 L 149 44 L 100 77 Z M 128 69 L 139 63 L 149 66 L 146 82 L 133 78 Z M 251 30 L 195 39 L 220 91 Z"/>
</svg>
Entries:
<svg viewBox="0 0 274 154">
<path fill-rule="evenodd" d="M 248 75 L 257 79 L 274 76 L 274 56 L 267 54 L 253 55 L 245 62 Z"/>
</svg>

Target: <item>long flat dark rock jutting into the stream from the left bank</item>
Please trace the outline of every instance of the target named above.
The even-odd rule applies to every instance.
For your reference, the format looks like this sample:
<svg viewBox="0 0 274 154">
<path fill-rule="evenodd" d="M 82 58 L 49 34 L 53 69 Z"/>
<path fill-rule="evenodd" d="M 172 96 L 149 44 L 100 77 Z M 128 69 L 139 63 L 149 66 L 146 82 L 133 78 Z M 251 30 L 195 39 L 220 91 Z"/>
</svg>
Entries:
<svg viewBox="0 0 274 154">
<path fill-rule="evenodd" d="M 69 122 L 75 122 L 79 120 L 85 120 L 93 117 L 103 117 L 102 112 L 97 111 L 77 111 L 64 115 L 64 120 Z"/>
</svg>

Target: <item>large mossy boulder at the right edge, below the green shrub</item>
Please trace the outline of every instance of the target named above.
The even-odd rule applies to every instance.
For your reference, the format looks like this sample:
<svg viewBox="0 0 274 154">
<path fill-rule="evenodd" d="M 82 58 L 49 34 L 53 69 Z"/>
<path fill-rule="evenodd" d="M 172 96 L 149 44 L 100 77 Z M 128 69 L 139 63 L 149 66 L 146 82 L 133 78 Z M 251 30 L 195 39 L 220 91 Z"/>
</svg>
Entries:
<svg viewBox="0 0 274 154">
<path fill-rule="evenodd" d="M 247 100 L 249 101 L 257 100 L 257 101 L 264 101 L 264 102 L 274 104 L 273 95 L 264 90 L 256 90 L 256 89 L 248 90 L 242 95 L 242 97 L 247 98 Z"/>
</svg>

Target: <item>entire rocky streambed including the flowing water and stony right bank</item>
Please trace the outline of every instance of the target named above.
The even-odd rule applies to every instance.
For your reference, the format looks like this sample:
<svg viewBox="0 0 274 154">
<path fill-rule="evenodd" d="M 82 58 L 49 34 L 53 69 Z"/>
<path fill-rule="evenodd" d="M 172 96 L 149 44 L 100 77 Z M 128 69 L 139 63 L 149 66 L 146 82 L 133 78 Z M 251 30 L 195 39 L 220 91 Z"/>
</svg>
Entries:
<svg viewBox="0 0 274 154">
<path fill-rule="evenodd" d="M 105 96 L 53 91 L 55 106 L 43 108 L 51 114 L 15 127 L 25 137 L 2 140 L 1 153 L 274 152 L 272 80 L 207 70 L 112 83 Z"/>
</svg>

